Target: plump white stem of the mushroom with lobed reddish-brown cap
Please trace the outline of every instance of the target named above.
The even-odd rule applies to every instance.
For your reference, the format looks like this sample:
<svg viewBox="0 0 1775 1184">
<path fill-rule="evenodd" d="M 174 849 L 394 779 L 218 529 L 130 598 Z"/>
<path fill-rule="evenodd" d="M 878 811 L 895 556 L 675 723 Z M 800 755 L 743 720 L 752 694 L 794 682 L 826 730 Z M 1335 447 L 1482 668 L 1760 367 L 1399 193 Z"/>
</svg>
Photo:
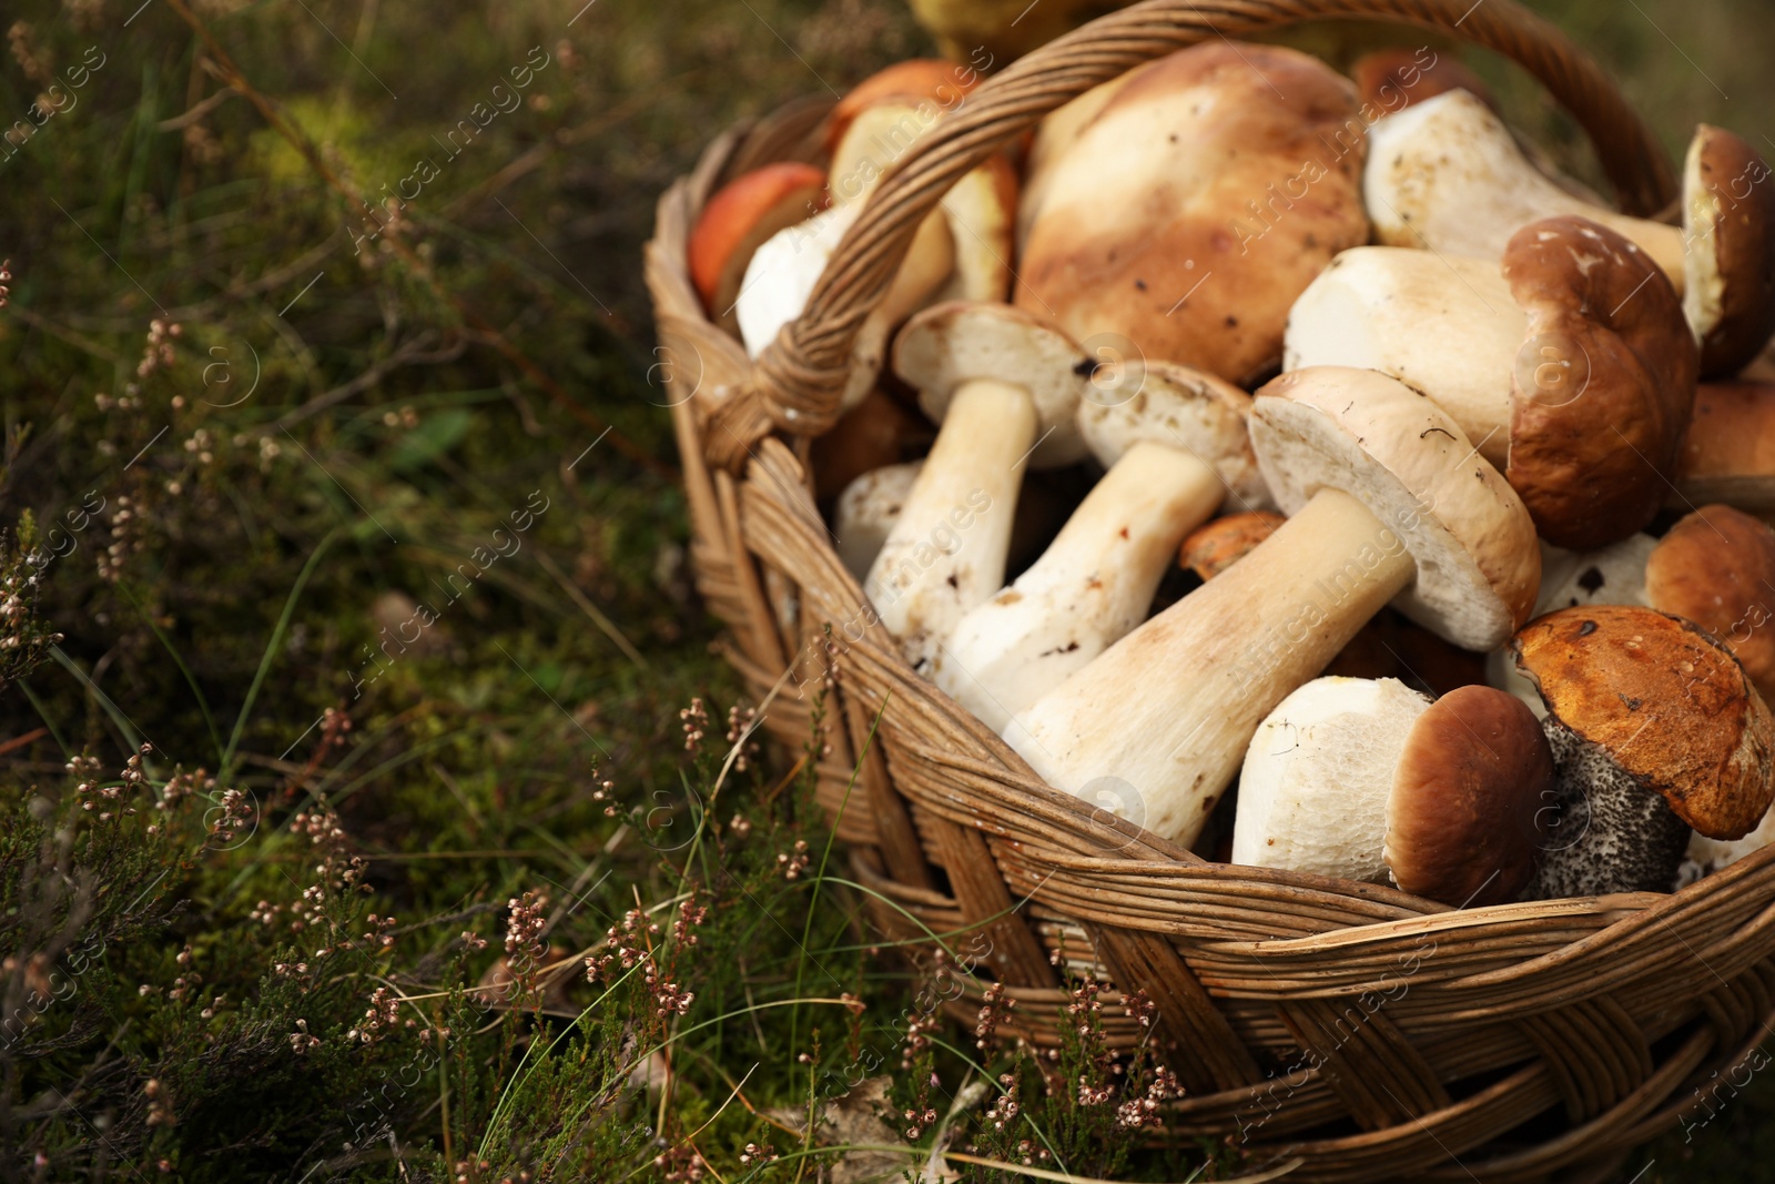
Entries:
<svg viewBox="0 0 1775 1184">
<path fill-rule="evenodd" d="M 1528 314 L 1496 261 L 1356 247 L 1294 302 L 1282 367 L 1356 366 L 1392 375 L 1429 392 L 1479 454 L 1503 469 L 1511 383 L 1526 339 Z M 1523 359 L 1530 367 L 1555 367 L 1535 376 L 1537 389 L 1564 376 L 1557 369 L 1564 362 Z"/>
</svg>

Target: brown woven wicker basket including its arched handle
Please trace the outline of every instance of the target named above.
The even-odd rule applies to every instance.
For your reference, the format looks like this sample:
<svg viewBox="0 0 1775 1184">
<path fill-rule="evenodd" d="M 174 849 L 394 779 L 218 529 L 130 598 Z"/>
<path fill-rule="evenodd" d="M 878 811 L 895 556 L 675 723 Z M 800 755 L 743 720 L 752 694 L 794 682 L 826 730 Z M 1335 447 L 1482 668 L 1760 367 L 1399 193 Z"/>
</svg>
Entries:
<svg viewBox="0 0 1775 1184">
<path fill-rule="evenodd" d="M 1727 1097 L 1720 1083 L 1741 1081 L 1770 1031 L 1775 852 L 1668 896 L 1468 911 L 1205 863 L 1042 785 L 918 678 L 815 508 L 806 446 L 834 419 L 850 337 L 950 183 L 1143 60 L 1326 16 L 1440 27 L 1516 59 L 1589 131 L 1628 209 L 1672 197 L 1668 165 L 1599 67 L 1511 0 L 1148 0 L 1037 50 L 951 112 L 754 364 L 703 314 L 685 240 L 724 179 L 815 158 L 825 107 L 785 108 L 721 137 L 664 195 L 646 254 L 698 582 L 774 735 L 804 744 L 824 701 L 820 801 L 879 928 L 978 934 L 955 943 L 974 969 L 974 994 L 948 1005 L 957 1015 L 971 1019 L 989 976 L 1021 1001 L 1017 1033 L 1054 1044 L 1063 955 L 1157 1003 L 1187 1090 L 1172 1131 L 1230 1138 L 1253 1163 L 1298 1157 L 1299 1180 L 1603 1179 L 1704 1097 Z M 1111 1021 L 1111 1038 L 1134 1040 L 1132 1026 Z"/>
</svg>

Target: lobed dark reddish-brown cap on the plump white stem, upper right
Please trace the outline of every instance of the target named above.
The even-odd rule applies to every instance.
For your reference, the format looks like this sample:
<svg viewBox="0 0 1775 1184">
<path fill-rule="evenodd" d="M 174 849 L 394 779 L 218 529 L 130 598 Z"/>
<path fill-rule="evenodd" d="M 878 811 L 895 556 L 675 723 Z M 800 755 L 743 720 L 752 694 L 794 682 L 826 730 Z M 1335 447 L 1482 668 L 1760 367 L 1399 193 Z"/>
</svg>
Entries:
<svg viewBox="0 0 1775 1184">
<path fill-rule="evenodd" d="M 1663 504 L 1695 401 L 1676 291 L 1644 250 L 1574 217 L 1519 229 L 1503 279 L 1528 314 L 1505 476 L 1550 543 L 1626 538 Z"/>
</svg>

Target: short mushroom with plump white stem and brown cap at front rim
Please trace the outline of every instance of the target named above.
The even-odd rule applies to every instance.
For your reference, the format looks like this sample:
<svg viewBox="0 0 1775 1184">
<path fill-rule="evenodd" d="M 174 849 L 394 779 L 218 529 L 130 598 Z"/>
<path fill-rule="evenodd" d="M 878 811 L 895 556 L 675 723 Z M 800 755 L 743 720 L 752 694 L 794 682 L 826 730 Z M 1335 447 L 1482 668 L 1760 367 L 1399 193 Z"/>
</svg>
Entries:
<svg viewBox="0 0 1775 1184">
<path fill-rule="evenodd" d="M 1232 861 L 1502 904 L 1534 875 L 1551 788 L 1541 722 L 1512 696 L 1315 678 L 1251 737 Z"/>
</svg>

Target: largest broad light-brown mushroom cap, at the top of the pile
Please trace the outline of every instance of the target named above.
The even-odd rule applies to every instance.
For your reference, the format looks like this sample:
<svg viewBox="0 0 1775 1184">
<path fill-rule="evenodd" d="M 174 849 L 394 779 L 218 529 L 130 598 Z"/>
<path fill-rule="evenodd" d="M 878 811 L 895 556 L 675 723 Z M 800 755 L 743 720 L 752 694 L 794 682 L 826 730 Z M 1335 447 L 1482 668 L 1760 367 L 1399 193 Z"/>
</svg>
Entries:
<svg viewBox="0 0 1775 1184">
<path fill-rule="evenodd" d="M 1363 151 L 1354 87 L 1305 53 L 1207 41 L 1148 62 L 1047 169 L 1015 302 L 1086 344 L 1257 380 L 1294 296 L 1369 240 Z"/>
</svg>

